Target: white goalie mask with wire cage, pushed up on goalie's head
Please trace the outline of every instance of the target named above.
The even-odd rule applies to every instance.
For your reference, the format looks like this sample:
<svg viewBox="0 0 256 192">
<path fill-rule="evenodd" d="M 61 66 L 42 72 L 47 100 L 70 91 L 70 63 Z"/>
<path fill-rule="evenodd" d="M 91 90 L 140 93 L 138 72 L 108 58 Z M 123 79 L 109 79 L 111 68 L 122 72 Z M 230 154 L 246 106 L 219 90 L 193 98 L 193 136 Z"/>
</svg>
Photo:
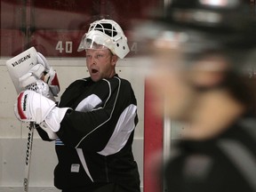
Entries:
<svg viewBox="0 0 256 192">
<path fill-rule="evenodd" d="M 109 49 L 120 59 L 130 52 L 124 31 L 114 20 L 96 20 L 84 34 L 77 52 L 86 49 Z"/>
</svg>

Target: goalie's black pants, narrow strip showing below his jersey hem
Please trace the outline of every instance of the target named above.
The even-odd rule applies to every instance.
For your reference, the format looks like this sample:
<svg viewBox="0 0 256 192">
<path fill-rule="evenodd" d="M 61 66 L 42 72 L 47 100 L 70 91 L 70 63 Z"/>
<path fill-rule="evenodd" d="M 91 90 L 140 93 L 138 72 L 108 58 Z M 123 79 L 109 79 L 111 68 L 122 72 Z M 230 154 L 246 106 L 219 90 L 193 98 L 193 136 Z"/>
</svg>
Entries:
<svg viewBox="0 0 256 192">
<path fill-rule="evenodd" d="M 62 189 L 62 192 L 127 192 L 127 190 L 119 187 L 115 183 L 107 183 L 89 188 L 67 188 Z"/>
</svg>

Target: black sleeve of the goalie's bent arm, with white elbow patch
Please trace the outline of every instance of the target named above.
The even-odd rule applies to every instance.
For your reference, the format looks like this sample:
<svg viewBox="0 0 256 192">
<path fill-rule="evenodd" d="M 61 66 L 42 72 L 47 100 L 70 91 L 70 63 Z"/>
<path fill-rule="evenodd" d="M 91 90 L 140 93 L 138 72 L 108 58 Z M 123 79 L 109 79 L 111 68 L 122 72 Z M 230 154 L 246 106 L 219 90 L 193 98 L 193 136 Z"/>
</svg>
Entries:
<svg viewBox="0 0 256 192">
<path fill-rule="evenodd" d="M 101 151 L 110 138 L 113 138 L 117 123 L 122 124 L 120 118 L 137 124 L 136 110 L 130 110 L 128 116 L 124 113 L 131 105 L 136 108 L 137 106 L 131 85 L 119 78 L 102 80 L 91 89 L 92 94 L 84 97 L 84 100 L 64 117 L 57 134 L 65 145 Z M 123 128 L 119 126 L 118 129 L 122 132 Z"/>
</svg>

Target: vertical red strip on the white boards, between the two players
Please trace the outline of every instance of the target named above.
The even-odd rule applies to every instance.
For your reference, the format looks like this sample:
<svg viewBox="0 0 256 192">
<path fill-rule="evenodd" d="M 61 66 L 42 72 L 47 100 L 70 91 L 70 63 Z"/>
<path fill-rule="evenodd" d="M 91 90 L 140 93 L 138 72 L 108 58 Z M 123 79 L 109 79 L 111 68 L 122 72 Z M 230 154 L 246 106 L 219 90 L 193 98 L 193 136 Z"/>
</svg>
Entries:
<svg viewBox="0 0 256 192">
<path fill-rule="evenodd" d="M 162 181 L 160 165 L 163 156 L 163 119 L 155 116 L 150 107 L 153 98 L 150 95 L 147 80 L 145 83 L 144 110 L 144 191 L 161 191 Z"/>
</svg>

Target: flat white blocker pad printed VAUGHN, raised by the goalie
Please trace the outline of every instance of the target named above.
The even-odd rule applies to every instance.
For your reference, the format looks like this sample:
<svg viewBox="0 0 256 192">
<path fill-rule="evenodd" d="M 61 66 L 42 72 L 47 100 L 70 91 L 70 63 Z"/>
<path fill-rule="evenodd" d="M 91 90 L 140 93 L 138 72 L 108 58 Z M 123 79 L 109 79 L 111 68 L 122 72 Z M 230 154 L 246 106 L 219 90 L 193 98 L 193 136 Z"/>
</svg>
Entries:
<svg viewBox="0 0 256 192">
<path fill-rule="evenodd" d="M 20 77 L 28 73 L 29 69 L 37 64 L 36 49 L 31 47 L 28 50 L 21 52 L 19 55 L 6 61 L 9 75 L 12 78 L 12 83 L 16 91 L 19 93 L 24 90 L 20 87 Z"/>
</svg>

